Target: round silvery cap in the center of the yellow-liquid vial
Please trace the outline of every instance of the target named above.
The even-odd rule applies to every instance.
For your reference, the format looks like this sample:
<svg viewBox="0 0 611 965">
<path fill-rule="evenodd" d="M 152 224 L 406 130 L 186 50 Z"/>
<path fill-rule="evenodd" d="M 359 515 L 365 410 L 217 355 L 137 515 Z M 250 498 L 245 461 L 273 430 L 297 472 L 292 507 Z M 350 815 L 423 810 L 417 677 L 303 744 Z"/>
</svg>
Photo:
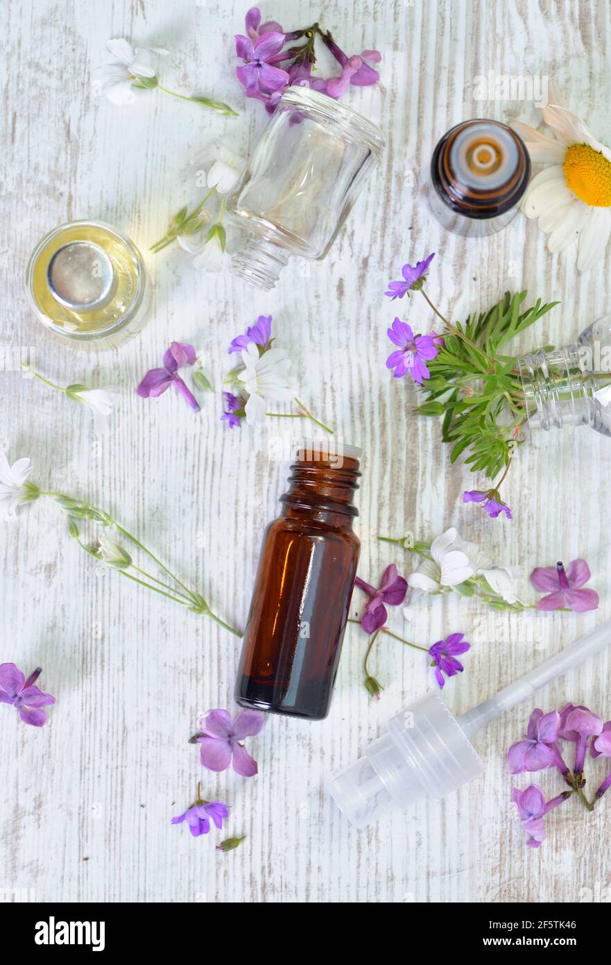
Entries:
<svg viewBox="0 0 611 965">
<path fill-rule="evenodd" d="M 103 308 L 117 285 L 113 263 L 93 241 L 70 241 L 59 248 L 46 274 L 55 300 L 76 312 Z"/>
</svg>

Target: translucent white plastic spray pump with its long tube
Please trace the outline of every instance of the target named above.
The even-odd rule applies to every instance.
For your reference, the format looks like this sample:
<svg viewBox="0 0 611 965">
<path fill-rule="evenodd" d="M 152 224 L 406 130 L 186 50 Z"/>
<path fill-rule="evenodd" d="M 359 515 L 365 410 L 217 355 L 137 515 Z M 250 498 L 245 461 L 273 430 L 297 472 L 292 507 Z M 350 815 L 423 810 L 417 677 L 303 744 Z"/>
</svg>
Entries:
<svg viewBox="0 0 611 965">
<path fill-rule="evenodd" d="M 427 694 L 391 717 L 385 733 L 369 744 L 354 764 L 328 775 L 328 790 L 342 813 L 359 828 L 393 805 L 406 811 L 423 797 L 445 797 L 485 770 L 471 744 L 473 734 L 609 643 L 611 620 L 605 620 L 571 647 L 459 717 L 438 692 Z"/>
</svg>

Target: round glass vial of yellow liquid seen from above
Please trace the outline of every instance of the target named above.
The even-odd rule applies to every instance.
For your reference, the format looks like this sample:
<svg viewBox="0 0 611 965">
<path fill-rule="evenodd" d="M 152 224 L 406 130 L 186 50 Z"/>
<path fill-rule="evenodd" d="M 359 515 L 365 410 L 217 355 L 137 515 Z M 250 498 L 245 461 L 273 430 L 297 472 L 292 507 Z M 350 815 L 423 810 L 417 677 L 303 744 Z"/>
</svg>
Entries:
<svg viewBox="0 0 611 965">
<path fill-rule="evenodd" d="M 72 221 L 45 234 L 26 271 L 43 325 L 70 342 L 116 348 L 140 332 L 150 308 L 142 255 L 101 221 Z"/>
</svg>

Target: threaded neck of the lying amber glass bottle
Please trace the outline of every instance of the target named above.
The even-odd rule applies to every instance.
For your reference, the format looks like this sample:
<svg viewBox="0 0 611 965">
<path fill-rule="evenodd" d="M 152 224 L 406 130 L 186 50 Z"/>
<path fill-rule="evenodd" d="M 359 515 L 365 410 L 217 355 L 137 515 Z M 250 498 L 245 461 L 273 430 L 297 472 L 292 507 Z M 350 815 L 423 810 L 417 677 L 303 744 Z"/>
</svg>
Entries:
<svg viewBox="0 0 611 965">
<path fill-rule="evenodd" d="M 358 459 L 299 459 L 291 466 L 288 492 L 280 496 L 282 515 L 301 519 L 307 516 L 338 529 L 352 529 L 352 521 L 359 515 L 352 502 L 359 488 L 359 476 Z"/>
</svg>

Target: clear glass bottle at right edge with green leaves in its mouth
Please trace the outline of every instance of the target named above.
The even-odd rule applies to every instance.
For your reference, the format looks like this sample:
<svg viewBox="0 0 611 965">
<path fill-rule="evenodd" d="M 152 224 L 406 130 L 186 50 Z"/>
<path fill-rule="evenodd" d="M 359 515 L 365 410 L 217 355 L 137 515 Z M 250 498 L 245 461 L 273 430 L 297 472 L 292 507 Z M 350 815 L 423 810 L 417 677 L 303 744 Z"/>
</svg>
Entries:
<svg viewBox="0 0 611 965">
<path fill-rule="evenodd" d="M 611 315 L 571 345 L 518 359 L 531 428 L 590 426 L 611 436 Z"/>
</svg>

